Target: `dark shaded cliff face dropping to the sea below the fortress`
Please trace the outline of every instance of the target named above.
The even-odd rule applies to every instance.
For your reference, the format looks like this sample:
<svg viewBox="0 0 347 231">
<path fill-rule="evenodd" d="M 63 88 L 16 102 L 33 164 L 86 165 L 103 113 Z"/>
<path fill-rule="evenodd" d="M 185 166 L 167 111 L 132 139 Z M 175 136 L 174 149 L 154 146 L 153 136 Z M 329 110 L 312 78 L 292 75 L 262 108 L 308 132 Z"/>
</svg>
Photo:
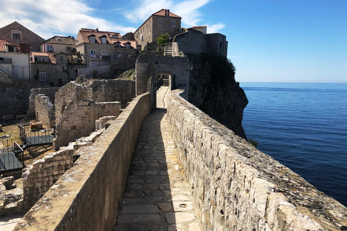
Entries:
<svg viewBox="0 0 347 231">
<path fill-rule="evenodd" d="M 245 138 L 243 110 L 245 92 L 235 81 L 235 67 L 224 57 L 188 54 L 189 102 Z"/>
</svg>

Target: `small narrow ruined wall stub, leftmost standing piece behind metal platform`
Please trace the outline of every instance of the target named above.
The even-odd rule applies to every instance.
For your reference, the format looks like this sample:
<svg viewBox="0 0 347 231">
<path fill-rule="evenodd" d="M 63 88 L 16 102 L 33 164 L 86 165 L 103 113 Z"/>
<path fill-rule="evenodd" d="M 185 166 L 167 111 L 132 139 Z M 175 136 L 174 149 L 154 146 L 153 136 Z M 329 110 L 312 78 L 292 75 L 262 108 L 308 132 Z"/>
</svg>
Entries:
<svg viewBox="0 0 347 231">
<path fill-rule="evenodd" d="M 54 109 L 48 96 L 40 94 L 35 97 L 35 115 L 37 121 L 43 122 L 48 128 L 53 127 Z"/>
</svg>

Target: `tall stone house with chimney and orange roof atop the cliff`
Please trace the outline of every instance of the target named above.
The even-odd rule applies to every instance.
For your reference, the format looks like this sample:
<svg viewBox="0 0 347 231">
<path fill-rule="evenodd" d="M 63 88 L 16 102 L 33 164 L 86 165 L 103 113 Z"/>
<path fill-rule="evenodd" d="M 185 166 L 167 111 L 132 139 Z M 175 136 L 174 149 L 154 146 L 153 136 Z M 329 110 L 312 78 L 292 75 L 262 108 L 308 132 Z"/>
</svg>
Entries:
<svg viewBox="0 0 347 231">
<path fill-rule="evenodd" d="M 164 33 L 171 36 L 181 33 L 181 17 L 171 13 L 169 9 L 161 9 L 152 14 L 135 31 L 135 39 L 143 48 Z"/>
</svg>

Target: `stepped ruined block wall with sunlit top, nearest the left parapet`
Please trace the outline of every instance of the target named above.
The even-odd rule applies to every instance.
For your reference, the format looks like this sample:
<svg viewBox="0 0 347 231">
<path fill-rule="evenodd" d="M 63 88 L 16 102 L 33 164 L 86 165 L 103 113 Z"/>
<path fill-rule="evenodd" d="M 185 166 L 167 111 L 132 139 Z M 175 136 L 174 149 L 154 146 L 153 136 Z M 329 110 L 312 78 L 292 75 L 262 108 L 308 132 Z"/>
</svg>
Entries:
<svg viewBox="0 0 347 231">
<path fill-rule="evenodd" d="M 73 166 L 73 155 L 81 147 L 90 146 L 103 131 L 91 133 L 76 142 L 62 147 L 56 153 L 45 154 L 42 159 L 35 160 L 23 170 L 24 208 L 29 210 L 52 185 Z"/>
</svg>

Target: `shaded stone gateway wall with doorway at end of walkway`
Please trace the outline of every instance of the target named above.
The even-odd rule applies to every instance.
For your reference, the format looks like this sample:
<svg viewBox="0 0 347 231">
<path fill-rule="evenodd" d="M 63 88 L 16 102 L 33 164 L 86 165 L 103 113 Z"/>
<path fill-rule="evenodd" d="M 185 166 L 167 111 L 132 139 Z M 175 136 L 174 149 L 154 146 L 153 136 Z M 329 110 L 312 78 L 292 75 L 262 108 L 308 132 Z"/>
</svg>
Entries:
<svg viewBox="0 0 347 231">
<path fill-rule="evenodd" d="M 189 85 L 189 64 L 184 57 L 139 55 L 136 61 L 136 95 L 147 90 L 149 77 L 160 74 L 170 75 L 170 88 Z"/>
</svg>

